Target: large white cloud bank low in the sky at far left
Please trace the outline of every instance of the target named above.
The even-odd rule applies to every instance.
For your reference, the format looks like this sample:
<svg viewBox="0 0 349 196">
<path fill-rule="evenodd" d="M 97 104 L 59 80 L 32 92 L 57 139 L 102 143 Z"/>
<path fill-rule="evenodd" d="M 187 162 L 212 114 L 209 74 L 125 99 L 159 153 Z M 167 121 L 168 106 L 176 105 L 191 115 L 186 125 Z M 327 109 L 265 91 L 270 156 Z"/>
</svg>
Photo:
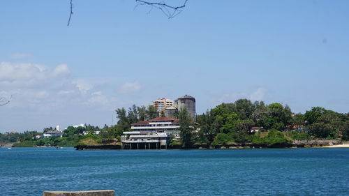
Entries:
<svg viewBox="0 0 349 196">
<path fill-rule="evenodd" d="M 13 95 L 8 108 L 43 114 L 86 105 L 110 110 L 116 100 L 96 89 L 99 83 L 99 80 L 70 77 L 66 64 L 50 68 L 36 63 L 0 63 L 0 96 Z"/>
</svg>

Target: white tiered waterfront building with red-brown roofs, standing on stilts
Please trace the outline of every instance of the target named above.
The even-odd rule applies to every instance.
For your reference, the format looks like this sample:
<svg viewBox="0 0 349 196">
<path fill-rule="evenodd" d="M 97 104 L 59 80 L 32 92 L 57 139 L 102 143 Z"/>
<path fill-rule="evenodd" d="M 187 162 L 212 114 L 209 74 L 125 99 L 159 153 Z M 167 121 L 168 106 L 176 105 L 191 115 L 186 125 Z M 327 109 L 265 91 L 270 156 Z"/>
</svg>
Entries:
<svg viewBox="0 0 349 196">
<path fill-rule="evenodd" d="M 167 149 L 170 140 L 179 140 L 179 121 L 158 117 L 149 121 L 133 123 L 132 131 L 121 136 L 122 148 L 126 149 Z"/>
</svg>

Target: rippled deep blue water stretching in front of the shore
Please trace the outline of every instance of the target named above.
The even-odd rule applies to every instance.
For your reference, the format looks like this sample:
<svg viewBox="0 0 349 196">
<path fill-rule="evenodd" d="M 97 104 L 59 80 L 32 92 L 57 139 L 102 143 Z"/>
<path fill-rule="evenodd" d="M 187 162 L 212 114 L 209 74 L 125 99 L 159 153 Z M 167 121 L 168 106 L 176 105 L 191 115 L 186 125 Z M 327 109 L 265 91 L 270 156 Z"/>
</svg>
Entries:
<svg viewBox="0 0 349 196">
<path fill-rule="evenodd" d="M 0 195 L 349 195 L 349 149 L 0 148 Z"/>
</svg>

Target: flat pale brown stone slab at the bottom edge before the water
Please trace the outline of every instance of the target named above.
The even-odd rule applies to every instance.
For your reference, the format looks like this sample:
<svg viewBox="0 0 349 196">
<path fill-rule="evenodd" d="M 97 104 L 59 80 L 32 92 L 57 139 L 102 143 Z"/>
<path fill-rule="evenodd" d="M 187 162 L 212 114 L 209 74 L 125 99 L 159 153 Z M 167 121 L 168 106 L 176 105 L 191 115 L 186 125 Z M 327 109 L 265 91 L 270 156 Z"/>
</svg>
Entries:
<svg viewBox="0 0 349 196">
<path fill-rule="evenodd" d="M 115 196 L 114 190 L 45 191 L 43 196 Z"/>
</svg>

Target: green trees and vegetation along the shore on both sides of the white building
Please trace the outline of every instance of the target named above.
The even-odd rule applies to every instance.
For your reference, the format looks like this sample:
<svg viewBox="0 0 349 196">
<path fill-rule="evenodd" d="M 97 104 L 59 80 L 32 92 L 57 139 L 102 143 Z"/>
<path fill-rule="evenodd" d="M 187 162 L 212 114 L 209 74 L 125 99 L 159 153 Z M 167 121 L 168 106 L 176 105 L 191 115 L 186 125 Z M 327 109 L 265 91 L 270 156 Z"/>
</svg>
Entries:
<svg viewBox="0 0 349 196">
<path fill-rule="evenodd" d="M 76 146 L 77 149 L 121 149 L 121 135 L 131 131 L 131 124 L 158 117 L 156 108 L 133 105 L 116 110 L 113 126 L 69 126 L 59 137 L 42 138 L 43 132 L 0 133 L 0 145 Z M 172 140 L 168 149 L 240 149 L 265 147 L 348 147 L 349 113 L 312 107 L 304 114 L 294 114 L 288 105 L 240 99 L 222 103 L 191 121 L 186 110 L 176 115 L 180 140 Z"/>
</svg>

